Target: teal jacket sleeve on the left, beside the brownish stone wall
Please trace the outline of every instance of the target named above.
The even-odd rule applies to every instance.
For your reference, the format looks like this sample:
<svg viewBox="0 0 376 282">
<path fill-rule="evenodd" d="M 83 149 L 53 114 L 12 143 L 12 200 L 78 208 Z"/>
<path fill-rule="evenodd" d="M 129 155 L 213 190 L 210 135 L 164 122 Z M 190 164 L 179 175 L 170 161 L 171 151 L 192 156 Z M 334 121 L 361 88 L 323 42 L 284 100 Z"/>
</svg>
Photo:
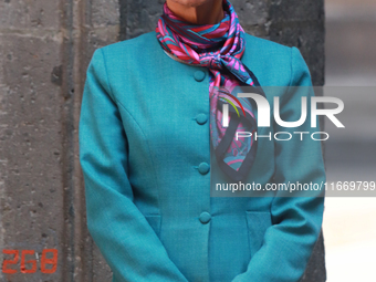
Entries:
<svg viewBox="0 0 376 282">
<path fill-rule="evenodd" d="M 101 49 L 86 75 L 79 139 L 88 231 L 116 282 L 187 282 L 133 202 L 126 133 Z"/>
</svg>

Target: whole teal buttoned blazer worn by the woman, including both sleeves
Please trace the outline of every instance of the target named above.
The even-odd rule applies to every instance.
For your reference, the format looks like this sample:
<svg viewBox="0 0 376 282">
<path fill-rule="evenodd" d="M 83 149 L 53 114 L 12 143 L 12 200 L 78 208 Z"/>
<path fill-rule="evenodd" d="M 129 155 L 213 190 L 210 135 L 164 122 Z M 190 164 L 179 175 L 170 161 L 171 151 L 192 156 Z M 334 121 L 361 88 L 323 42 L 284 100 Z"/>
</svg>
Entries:
<svg viewBox="0 0 376 282">
<path fill-rule="evenodd" d="M 246 40 L 241 61 L 261 85 L 284 86 L 273 94 L 281 117 L 297 121 L 301 96 L 313 95 L 291 87 L 312 85 L 300 51 Z M 208 90 L 208 70 L 169 58 L 154 31 L 91 60 L 80 161 L 87 227 L 113 282 L 292 282 L 306 268 L 323 197 L 210 197 L 210 175 L 221 174 L 210 159 Z M 270 129 L 296 130 L 273 123 L 260 134 Z M 260 139 L 248 180 L 325 181 L 321 143 L 294 139 Z"/>
</svg>

